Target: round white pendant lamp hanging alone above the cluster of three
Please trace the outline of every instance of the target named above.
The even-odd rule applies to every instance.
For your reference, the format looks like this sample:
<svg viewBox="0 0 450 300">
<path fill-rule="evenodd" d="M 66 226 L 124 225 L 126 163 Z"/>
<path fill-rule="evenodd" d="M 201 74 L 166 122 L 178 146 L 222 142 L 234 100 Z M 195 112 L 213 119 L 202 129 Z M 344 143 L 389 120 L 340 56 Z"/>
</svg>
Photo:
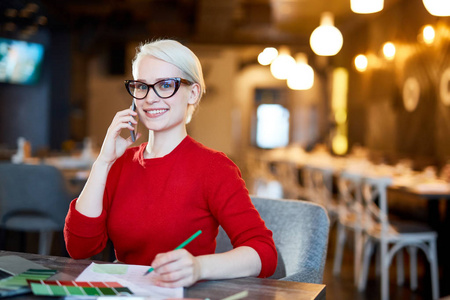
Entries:
<svg viewBox="0 0 450 300">
<path fill-rule="evenodd" d="M 333 23 L 332 13 L 322 13 L 320 26 L 314 29 L 309 39 L 311 48 L 317 55 L 333 56 L 341 50 L 344 38 Z"/>
</svg>

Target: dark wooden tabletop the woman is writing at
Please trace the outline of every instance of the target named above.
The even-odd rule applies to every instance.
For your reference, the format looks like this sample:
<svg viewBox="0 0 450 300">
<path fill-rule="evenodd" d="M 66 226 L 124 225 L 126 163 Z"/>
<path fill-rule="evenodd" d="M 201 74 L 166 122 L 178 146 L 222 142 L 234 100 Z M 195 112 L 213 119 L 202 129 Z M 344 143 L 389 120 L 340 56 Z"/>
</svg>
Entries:
<svg viewBox="0 0 450 300">
<path fill-rule="evenodd" d="M 43 256 L 30 253 L 0 251 L 0 256 L 18 255 L 59 273 L 53 279 L 72 280 L 78 276 L 92 260 L 74 260 L 67 257 Z M 96 263 L 102 263 L 96 261 Z M 284 300 L 284 299 L 325 299 L 326 287 L 323 284 L 289 282 L 273 279 L 239 278 L 198 282 L 184 289 L 184 297 L 223 299 L 236 293 L 248 291 L 245 299 Z M 16 296 L 18 299 L 42 299 L 32 294 Z"/>
</svg>

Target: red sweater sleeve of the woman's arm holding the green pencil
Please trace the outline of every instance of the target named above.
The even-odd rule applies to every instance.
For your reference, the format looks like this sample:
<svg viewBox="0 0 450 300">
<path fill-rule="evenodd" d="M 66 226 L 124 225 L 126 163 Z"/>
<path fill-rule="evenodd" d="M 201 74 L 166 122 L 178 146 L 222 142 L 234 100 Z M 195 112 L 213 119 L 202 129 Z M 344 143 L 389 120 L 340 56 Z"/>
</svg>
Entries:
<svg viewBox="0 0 450 300">
<path fill-rule="evenodd" d="M 262 268 L 258 277 L 271 276 L 277 266 L 272 231 L 267 229 L 251 202 L 238 167 L 218 153 L 209 170 L 205 190 L 209 194 L 211 212 L 234 248 L 248 246 L 259 254 Z"/>
</svg>

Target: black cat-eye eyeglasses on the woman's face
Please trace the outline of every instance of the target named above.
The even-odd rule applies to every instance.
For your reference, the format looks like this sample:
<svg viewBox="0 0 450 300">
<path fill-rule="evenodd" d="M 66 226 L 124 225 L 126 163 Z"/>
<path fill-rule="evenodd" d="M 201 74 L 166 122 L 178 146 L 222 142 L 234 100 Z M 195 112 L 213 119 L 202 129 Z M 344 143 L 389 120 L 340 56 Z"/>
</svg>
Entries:
<svg viewBox="0 0 450 300">
<path fill-rule="evenodd" d="M 192 82 L 183 78 L 166 78 L 155 82 L 154 84 L 147 84 L 139 80 L 125 80 L 125 87 L 128 93 L 135 99 L 141 100 L 147 97 L 150 88 L 155 94 L 162 99 L 170 98 L 178 91 L 180 85 L 184 83 L 191 85 Z"/>
</svg>

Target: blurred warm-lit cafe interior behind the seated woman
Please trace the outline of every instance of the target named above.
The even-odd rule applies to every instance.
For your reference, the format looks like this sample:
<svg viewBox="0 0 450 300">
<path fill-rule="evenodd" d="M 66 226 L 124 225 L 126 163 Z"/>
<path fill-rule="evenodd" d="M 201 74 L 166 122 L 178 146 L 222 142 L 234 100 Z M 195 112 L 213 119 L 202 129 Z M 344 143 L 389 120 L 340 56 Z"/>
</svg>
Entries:
<svg viewBox="0 0 450 300">
<path fill-rule="evenodd" d="M 56 166 L 75 197 L 131 105 L 136 47 L 173 38 L 206 80 L 188 134 L 231 158 L 251 194 L 327 209 L 329 299 L 450 296 L 449 16 L 448 0 L 2 0 L 0 162 Z M 360 198 L 367 178 L 388 179 L 381 214 L 435 233 L 391 257 L 388 292 L 356 227 L 342 240 L 343 199 L 358 194 L 342 174 Z M 42 237 L 16 237 L 3 249 L 38 251 Z M 67 255 L 61 239 L 48 254 Z"/>
</svg>

